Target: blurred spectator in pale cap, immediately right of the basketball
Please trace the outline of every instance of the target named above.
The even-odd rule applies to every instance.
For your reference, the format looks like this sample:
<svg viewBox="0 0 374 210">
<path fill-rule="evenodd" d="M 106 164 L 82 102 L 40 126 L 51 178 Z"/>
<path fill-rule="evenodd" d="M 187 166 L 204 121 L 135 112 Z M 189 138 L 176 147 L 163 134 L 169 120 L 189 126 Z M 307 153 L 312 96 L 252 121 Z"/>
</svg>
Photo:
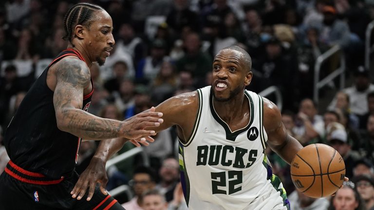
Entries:
<svg viewBox="0 0 374 210">
<path fill-rule="evenodd" d="M 330 123 L 328 128 L 327 140 L 334 149 L 344 159 L 345 176 L 353 177 L 353 168 L 358 157 L 351 150 L 351 144 L 348 142 L 347 132 L 340 123 Z"/>
</svg>

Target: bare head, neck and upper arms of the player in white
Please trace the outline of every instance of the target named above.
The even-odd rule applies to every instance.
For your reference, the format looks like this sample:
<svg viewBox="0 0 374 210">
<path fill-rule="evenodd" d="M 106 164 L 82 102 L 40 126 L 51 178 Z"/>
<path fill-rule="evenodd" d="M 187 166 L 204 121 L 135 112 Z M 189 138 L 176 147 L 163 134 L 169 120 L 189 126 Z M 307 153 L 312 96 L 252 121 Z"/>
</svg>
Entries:
<svg viewBox="0 0 374 210">
<path fill-rule="evenodd" d="M 245 127 L 250 120 L 250 110 L 248 100 L 244 100 L 244 88 L 250 84 L 252 72 L 244 61 L 243 53 L 232 49 L 220 51 L 213 62 L 212 77 L 215 96 L 213 106 L 217 114 L 231 130 Z M 218 88 L 219 83 L 225 84 L 226 87 Z M 176 125 L 179 139 L 186 142 L 192 133 L 198 105 L 197 91 L 169 98 L 156 107 L 156 111 L 164 114 L 164 123 L 147 129 L 159 132 Z M 303 147 L 298 140 L 287 133 L 281 121 L 281 112 L 274 103 L 264 99 L 263 112 L 263 126 L 268 136 L 267 145 L 291 164 L 297 152 Z M 114 147 L 110 147 L 110 150 L 112 149 Z"/>
</svg>

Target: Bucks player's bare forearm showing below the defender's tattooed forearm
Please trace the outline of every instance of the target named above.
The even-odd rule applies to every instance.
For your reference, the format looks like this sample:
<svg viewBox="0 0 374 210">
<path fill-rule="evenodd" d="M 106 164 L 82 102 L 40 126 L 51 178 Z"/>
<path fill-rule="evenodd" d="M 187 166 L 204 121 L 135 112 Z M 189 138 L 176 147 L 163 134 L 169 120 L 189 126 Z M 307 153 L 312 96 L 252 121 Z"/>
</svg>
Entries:
<svg viewBox="0 0 374 210">
<path fill-rule="evenodd" d="M 125 138 L 102 140 L 97 147 L 94 157 L 100 158 L 106 162 L 110 157 L 118 152 L 127 141 L 129 140 Z"/>
</svg>

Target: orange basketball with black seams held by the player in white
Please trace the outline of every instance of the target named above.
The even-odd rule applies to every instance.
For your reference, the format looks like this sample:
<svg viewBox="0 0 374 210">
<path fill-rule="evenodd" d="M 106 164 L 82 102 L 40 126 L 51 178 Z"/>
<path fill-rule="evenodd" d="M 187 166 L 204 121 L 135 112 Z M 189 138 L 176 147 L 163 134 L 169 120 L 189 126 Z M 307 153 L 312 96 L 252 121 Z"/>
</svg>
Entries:
<svg viewBox="0 0 374 210">
<path fill-rule="evenodd" d="M 296 189 L 309 197 L 326 197 L 343 184 L 345 164 L 340 154 L 326 144 L 302 148 L 291 163 L 291 178 Z"/>
</svg>

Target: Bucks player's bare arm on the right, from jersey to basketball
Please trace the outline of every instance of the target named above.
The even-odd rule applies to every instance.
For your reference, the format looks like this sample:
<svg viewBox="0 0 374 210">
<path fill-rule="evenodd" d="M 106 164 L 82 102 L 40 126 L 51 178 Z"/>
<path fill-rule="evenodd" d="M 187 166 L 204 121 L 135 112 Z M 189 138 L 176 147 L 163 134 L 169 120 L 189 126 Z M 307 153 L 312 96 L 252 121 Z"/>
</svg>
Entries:
<svg viewBox="0 0 374 210">
<path fill-rule="evenodd" d="M 291 164 L 302 148 L 298 140 L 291 137 L 281 121 L 281 111 L 271 101 L 263 98 L 263 124 L 267 133 L 267 144 L 284 161 Z"/>
</svg>

